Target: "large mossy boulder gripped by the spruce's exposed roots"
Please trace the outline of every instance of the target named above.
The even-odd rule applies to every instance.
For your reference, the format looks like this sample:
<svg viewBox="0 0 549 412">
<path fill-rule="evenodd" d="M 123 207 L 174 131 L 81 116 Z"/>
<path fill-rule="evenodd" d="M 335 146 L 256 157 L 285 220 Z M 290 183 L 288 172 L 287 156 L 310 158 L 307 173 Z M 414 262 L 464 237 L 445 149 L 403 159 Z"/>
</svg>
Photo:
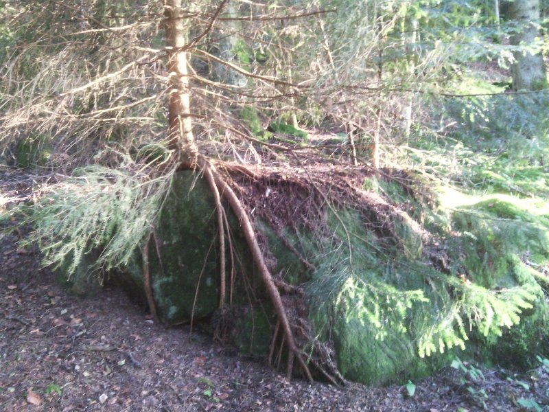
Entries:
<svg viewBox="0 0 549 412">
<path fill-rule="evenodd" d="M 274 217 L 266 219 L 259 209 L 252 216 L 271 273 L 303 290 L 301 297 L 281 289 L 288 294 L 283 301 L 300 296 L 307 308 L 301 329 L 310 331 L 307 339 L 334 348 L 345 378 L 368 385 L 406 381 L 449 363 L 456 352 L 481 362 L 547 353 L 549 306 L 539 286 L 544 275 L 528 263 L 528 256 L 535 264 L 549 262 L 543 216 L 492 199 L 446 214 L 428 207 L 408 214 L 412 191 L 386 186 L 382 195 L 364 195 L 364 205 L 323 201 L 316 216 L 292 204 L 284 220 L 283 212 L 264 205 L 292 202 L 283 194 L 299 186 L 266 181 L 269 197 L 255 201 Z M 213 196 L 193 172 L 174 178 L 148 248 L 157 312 L 167 325 L 207 321 L 242 352 L 266 355 L 276 316 L 240 225 L 225 209 L 233 245 L 226 263 L 230 271 L 235 262 L 235 271 L 220 310 Z M 427 233 L 423 220 L 438 229 Z M 143 300 L 140 253 L 119 279 Z"/>
</svg>

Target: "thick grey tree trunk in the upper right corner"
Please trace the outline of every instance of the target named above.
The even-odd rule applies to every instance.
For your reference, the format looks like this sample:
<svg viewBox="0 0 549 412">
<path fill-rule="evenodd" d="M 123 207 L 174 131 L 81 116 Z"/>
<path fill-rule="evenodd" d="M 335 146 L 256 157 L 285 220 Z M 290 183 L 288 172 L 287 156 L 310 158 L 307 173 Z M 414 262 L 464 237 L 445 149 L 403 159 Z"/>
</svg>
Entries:
<svg viewBox="0 0 549 412">
<path fill-rule="evenodd" d="M 539 0 L 515 0 L 509 7 L 509 17 L 517 23 L 517 33 L 511 36 L 512 45 L 531 46 L 539 36 Z M 530 54 L 526 50 L 514 52 L 511 67 L 513 90 L 539 90 L 547 87 L 546 68 L 541 51 Z"/>
</svg>

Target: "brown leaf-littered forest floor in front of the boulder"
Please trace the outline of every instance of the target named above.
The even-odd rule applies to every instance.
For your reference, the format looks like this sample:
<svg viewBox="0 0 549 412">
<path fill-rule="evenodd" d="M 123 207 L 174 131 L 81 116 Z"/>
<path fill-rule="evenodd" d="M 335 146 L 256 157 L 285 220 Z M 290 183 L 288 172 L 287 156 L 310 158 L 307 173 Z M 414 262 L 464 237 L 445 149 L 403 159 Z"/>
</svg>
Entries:
<svg viewBox="0 0 549 412">
<path fill-rule="evenodd" d="M 36 181 L 0 168 L 0 215 Z M 542 366 L 515 374 L 465 364 L 473 375 L 448 366 L 414 381 L 413 396 L 402 385 L 287 380 L 188 325 L 164 328 L 121 290 L 67 295 L 40 255 L 18 243 L 24 231 L 0 231 L 1 411 L 548 410 Z"/>
</svg>

